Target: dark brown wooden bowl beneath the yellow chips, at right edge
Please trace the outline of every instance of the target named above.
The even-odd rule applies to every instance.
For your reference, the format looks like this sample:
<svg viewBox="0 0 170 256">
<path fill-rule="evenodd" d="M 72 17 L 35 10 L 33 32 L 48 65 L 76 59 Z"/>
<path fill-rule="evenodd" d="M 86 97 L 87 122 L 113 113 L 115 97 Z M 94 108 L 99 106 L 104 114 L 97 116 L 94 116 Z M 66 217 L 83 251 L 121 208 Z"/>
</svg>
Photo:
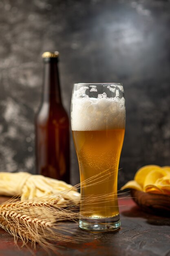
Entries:
<svg viewBox="0 0 170 256">
<path fill-rule="evenodd" d="M 131 189 L 133 200 L 144 211 L 161 216 L 170 216 L 170 195 L 145 193 Z"/>
</svg>

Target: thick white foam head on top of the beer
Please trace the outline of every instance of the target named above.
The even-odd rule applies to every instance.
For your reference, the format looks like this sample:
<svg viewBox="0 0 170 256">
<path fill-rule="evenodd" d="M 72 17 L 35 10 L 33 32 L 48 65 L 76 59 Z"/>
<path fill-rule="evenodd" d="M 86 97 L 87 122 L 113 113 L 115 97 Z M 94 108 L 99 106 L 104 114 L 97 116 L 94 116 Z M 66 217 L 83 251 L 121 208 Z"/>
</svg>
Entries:
<svg viewBox="0 0 170 256">
<path fill-rule="evenodd" d="M 125 99 L 108 98 L 106 93 L 97 98 L 77 97 L 73 94 L 72 130 L 106 130 L 125 127 Z"/>
</svg>

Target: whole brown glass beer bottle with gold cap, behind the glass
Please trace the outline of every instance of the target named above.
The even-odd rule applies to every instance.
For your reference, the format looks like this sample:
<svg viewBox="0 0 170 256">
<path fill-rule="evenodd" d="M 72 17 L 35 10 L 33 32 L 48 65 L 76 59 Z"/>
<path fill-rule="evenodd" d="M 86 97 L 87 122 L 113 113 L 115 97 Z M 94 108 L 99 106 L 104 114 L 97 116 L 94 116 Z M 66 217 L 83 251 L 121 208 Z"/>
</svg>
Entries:
<svg viewBox="0 0 170 256">
<path fill-rule="evenodd" d="M 35 116 L 37 173 L 70 182 L 69 121 L 62 105 L 58 52 L 45 52 L 44 89 Z"/>
</svg>

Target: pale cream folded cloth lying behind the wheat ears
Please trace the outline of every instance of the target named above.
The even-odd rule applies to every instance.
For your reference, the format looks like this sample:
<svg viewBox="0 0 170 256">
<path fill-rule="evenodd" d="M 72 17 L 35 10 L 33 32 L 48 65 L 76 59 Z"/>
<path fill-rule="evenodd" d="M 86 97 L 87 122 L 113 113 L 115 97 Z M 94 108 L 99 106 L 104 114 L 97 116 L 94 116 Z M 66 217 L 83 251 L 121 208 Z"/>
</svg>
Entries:
<svg viewBox="0 0 170 256">
<path fill-rule="evenodd" d="M 60 192 L 64 192 L 62 197 L 58 197 L 60 202 L 71 200 L 75 204 L 79 203 L 80 194 L 64 181 L 26 172 L 0 173 L 0 195 L 18 195 L 21 201 L 25 201 Z"/>
</svg>

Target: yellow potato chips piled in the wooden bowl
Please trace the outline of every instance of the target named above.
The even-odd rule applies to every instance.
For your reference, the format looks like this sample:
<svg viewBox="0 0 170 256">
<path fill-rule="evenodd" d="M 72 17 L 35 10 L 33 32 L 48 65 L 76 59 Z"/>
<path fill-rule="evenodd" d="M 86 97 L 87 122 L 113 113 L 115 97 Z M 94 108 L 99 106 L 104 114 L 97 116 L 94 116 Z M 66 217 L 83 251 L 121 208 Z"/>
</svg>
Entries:
<svg viewBox="0 0 170 256">
<path fill-rule="evenodd" d="M 170 166 L 146 165 L 121 189 L 136 189 L 146 193 L 170 195 Z"/>
</svg>

